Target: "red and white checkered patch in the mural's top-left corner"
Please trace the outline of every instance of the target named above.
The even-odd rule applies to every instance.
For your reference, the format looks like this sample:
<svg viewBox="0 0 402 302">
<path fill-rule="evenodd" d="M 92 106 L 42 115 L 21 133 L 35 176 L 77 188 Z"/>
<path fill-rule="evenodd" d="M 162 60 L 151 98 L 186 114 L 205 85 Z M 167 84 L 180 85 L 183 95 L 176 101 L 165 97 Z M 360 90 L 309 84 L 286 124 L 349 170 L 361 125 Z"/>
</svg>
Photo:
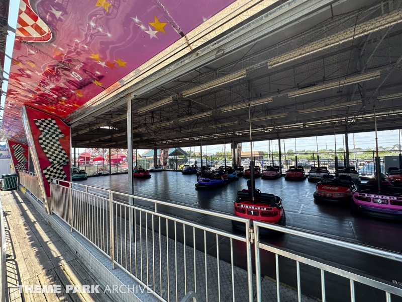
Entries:
<svg viewBox="0 0 402 302">
<path fill-rule="evenodd" d="M 16 35 L 30 42 L 47 42 L 52 38 L 49 27 L 32 10 L 29 0 L 20 0 Z"/>
</svg>

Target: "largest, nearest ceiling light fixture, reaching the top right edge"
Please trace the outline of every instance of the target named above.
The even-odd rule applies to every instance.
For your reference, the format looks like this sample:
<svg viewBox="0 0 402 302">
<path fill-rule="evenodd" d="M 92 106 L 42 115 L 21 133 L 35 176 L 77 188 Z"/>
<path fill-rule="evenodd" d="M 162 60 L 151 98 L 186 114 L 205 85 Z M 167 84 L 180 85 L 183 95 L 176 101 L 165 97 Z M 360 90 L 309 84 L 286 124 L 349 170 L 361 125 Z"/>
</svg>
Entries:
<svg viewBox="0 0 402 302">
<path fill-rule="evenodd" d="M 402 11 L 393 14 L 383 15 L 370 21 L 358 24 L 344 31 L 331 35 L 327 38 L 320 39 L 306 46 L 299 47 L 295 50 L 278 55 L 268 61 L 268 68 L 290 62 L 292 60 L 302 58 L 309 54 L 342 44 L 353 39 L 366 36 L 369 33 L 379 31 L 383 28 L 402 22 Z"/>
</svg>

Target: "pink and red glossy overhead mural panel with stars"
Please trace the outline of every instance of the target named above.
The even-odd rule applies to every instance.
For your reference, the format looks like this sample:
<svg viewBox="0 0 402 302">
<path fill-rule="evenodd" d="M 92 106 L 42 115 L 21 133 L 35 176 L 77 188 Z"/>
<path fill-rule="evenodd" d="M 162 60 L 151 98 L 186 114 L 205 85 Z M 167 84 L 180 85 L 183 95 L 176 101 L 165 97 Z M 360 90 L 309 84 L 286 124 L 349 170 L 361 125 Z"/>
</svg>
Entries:
<svg viewBox="0 0 402 302">
<path fill-rule="evenodd" d="M 234 0 L 21 0 L 3 136 L 20 108 L 64 117 Z"/>
</svg>

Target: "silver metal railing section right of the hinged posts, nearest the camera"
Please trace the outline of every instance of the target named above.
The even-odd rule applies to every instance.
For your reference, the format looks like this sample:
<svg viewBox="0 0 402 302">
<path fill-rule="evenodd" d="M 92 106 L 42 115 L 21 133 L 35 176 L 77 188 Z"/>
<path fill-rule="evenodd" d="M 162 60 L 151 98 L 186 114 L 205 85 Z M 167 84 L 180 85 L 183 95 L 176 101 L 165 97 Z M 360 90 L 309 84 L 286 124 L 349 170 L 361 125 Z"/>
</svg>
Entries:
<svg viewBox="0 0 402 302">
<path fill-rule="evenodd" d="M 314 259 L 313 257 L 308 257 L 306 255 L 289 251 L 284 248 L 280 248 L 271 244 L 263 243 L 260 241 L 260 228 L 274 230 L 282 233 L 286 233 L 289 235 L 294 235 L 304 239 L 314 240 L 320 243 L 326 243 L 337 247 L 346 248 L 349 250 L 354 250 L 358 252 L 362 252 L 365 254 L 371 254 L 378 257 L 383 257 L 386 259 L 392 259 L 395 261 L 402 262 L 402 254 L 393 253 L 386 250 L 376 249 L 373 247 L 354 244 L 347 241 L 337 240 L 330 237 L 315 235 L 309 232 L 298 231 L 291 228 L 286 228 L 285 226 L 280 226 L 276 224 L 268 224 L 261 221 L 254 220 L 253 223 L 254 234 L 255 234 L 255 243 L 254 243 L 254 252 L 255 252 L 255 274 L 256 274 L 256 288 L 257 288 L 257 302 L 261 302 L 261 257 L 260 250 L 263 249 L 265 251 L 271 252 L 275 254 L 275 269 L 276 269 L 276 300 L 280 301 L 280 281 L 279 281 L 279 257 L 282 256 L 287 259 L 294 260 L 296 262 L 296 279 L 297 279 L 297 301 L 302 301 L 302 291 L 300 286 L 300 263 L 309 265 L 311 267 L 318 268 L 320 270 L 321 276 L 321 300 L 323 302 L 326 301 L 326 290 L 325 290 L 325 272 L 329 272 L 344 278 L 349 279 L 350 282 L 350 296 L 351 301 L 355 302 L 355 284 L 354 282 L 360 282 L 371 286 L 373 288 L 377 288 L 384 291 L 384 296 L 386 302 L 391 302 L 391 294 L 395 294 L 398 296 L 402 296 L 402 288 L 396 287 L 393 283 L 379 280 L 370 276 L 366 276 L 354 272 L 353 269 L 336 265 L 334 263 L 329 263 L 321 259 Z"/>
</svg>

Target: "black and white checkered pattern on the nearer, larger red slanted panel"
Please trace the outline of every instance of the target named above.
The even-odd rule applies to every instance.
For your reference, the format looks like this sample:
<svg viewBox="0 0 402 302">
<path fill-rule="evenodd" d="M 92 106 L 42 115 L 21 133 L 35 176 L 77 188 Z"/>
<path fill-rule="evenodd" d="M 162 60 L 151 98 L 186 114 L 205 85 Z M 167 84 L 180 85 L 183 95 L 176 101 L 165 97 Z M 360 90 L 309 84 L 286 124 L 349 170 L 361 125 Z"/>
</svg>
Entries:
<svg viewBox="0 0 402 302">
<path fill-rule="evenodd" d="M 45 178 L 49 182 L 50 178 L 65 180 L 67 175 L 64 173 L 63 166 L 68 164 L 68 157 L 59 141 L 61 137 L 64 137 L 63 132 L 53 118 L 35 119 L 34 122 L 42 133 L 39 136 L 39 144 L 51 164 L 43 169 Z"/>
</svg>

